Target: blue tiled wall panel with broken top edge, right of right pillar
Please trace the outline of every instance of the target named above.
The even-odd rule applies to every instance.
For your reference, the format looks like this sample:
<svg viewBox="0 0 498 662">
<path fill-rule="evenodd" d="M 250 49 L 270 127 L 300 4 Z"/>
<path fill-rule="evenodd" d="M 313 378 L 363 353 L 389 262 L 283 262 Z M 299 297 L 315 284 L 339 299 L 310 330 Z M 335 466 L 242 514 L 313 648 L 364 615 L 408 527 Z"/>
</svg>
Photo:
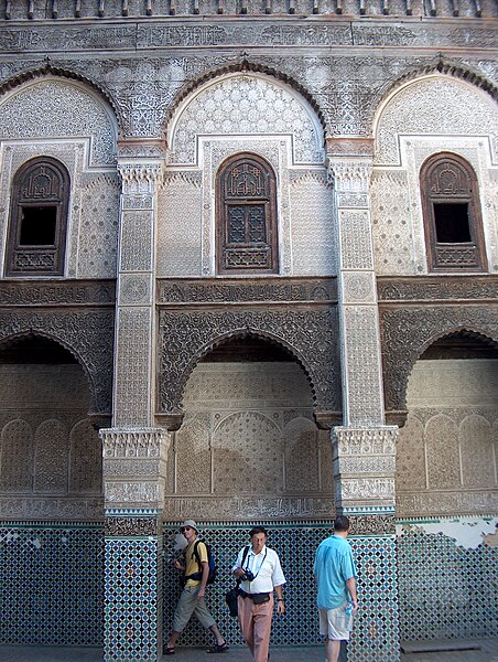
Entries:
<svg viewBox="0 0 498 662">
<path fill-rule="evenodd" d="M 397 547 L 402 640 L 498 636 L 497 548 L 420 530 Z"/>
</svg>

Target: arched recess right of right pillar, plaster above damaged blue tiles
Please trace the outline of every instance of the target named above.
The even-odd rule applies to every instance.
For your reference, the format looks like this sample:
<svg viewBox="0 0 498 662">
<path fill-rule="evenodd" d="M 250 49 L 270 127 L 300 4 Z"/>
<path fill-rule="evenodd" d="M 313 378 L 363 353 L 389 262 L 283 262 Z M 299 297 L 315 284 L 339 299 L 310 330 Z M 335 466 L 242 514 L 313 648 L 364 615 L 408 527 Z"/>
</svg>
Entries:
<svg viewBox="0 0 498 662">
<path fill-rule="evenodd" d="M 434 342 L 413 366 L 407 405 L 397 449 L 401 638 L 492 636 L 496 343 L 466 331 Z"/>
</svg>

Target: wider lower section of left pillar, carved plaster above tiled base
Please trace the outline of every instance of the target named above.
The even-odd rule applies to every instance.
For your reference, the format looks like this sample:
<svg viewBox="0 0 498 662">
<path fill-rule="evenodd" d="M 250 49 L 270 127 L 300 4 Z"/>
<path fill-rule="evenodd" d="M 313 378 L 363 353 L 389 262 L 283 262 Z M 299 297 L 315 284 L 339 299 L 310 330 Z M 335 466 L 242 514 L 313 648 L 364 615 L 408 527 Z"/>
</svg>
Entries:
<svg viewBox="0 0 498 662">
<path fill-rule="evenodd" d="M 106 503 L 104 660 L 156 662 L 162 654 L 160 514 L 169 434 L 100 430 Z"/>
</svg>

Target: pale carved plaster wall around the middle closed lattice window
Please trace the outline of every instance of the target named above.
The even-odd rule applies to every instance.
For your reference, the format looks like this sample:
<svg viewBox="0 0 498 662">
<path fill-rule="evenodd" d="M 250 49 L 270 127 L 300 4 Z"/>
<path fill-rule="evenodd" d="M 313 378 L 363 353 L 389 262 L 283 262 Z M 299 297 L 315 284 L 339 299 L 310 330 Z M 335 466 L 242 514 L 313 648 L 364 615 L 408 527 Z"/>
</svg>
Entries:
<svg viewBox="0 0 498 662">
<path fill-rule="evenodd" d="M 161 277 L 215 274 L 216 173 L 240 151 L 262 156 L 277 173 L 281 274 L 332 273 L 332 200 L 324 171 L 302 179 L 300 197 L 290 196 L 290 177 L 301 171 L 293 167 L 324 160 L 323 128 L 304 98 L 269 76 L 226 75 L 185 100 L 170 134 L 170 172 L 159 207 Z M 201 180 L 185 166 L 201 167 Z M 178 193 L 187 194 L 186 204 Z"/>
</svg>

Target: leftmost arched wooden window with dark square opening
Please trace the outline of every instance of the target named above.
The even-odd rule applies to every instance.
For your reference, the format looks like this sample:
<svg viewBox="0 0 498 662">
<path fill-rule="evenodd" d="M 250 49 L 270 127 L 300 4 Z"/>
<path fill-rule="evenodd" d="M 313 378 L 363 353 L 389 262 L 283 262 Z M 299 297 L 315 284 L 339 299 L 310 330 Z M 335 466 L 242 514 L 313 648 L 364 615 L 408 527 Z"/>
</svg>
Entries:
<svg viewBox="0 0 498 662">
<path fill-rule="evenodd" d="M 33 159 L 12 184 L 7 276 L 62 276 L 69 175 L 54 159 Z"/>
</svg>

